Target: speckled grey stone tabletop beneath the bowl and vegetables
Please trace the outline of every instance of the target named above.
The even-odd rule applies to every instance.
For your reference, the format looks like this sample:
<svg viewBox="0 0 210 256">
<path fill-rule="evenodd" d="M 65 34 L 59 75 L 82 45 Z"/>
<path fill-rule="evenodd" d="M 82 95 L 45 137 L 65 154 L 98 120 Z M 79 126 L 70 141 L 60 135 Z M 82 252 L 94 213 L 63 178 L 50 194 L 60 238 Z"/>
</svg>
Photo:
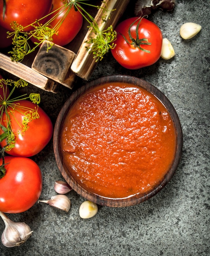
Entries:
<svg viewBox="0 0 210 256">
<path fill-rule="evenodd" d="M 123 18 L 133 16 L 134 0 Z M 183 128 L 183 155 L 175 175 L 157 195 L 127 208 L 99 207 L 96 216 L 81 219 L 85 200 L 74 191 L 68 196 L 69 213 L 36 203 L 20 214 L 8 214 L 26 222 L 34 233 L 20 247 L 6 248 L 1 256 L 208 256 L 210 255 L 210 1 L 177 0 L 173 13 L 157 11 L 149 17 L 172 43 L 176 56 L 141 70 L 120 67 L 109 52 L 90 80 L 127 74 L 152 83 L 170 99 Z M 185 22 L 202 26 L 197 36 L 183 40 L 179 28 Z M 75 89 L 86 83 L 78 80 Z M 71 91 L 40 92 L 42 108 L 55 124 Z M 35 157 L 43 174 L 40 199 L 55 195 L 54 182 L 62 180 L 56 165 L 53 141 Z M 4 223 L 0 220 L 0 234 Z"/>
</svg>

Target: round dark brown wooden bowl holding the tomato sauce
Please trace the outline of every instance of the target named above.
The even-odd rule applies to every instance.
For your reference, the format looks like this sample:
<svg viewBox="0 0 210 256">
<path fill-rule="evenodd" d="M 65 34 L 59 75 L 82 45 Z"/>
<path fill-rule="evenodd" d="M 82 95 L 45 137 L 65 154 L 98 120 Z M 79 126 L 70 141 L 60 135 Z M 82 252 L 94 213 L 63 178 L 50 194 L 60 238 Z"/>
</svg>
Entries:
<svg viewBox="0 0 210 256">
<path fill-rule="evenodd" d="M 71 167 L 65 164 L 63 161 L 63 151 L 60 148 L 60 134 L 63 129 L 63 122 L 65 120 L 65 117 L 67 113 L 69 112 L 69 109 L 71 108 L 72 104 L 80 97 L 81 94 L 87 92 L 89 89 L 97 86 L 102 85 L 109 82 L 121 82 L 121 83 L 130 83 L 131 85 L 137 85 L 141 88 L 146 89 L 148 92 L 152 93 L 153 95 L 158 98 L 161 103 L 165 106 L 165 108 L 168 110 L 170 117 L 174 123 L 175 127 L 175 133 L 176 133 L 176 147 L 175 147 L 175 154 L 172 164 L 170 165 L 170 168 L 168 169 L 165 176 L 159 181 L 156 186 L 148 193 L 146 194 L 139 194 L 130 196 L 128 198 L 107 198 L 103 197 L 101 195 L 97 195 L 95 193 L 92 193 L 88 191 L 88 189 L 84 189 L 83 186 L 81 186 L 81 183 L 78 184 L 71 175 Z M 179 121 L 179 117 L 176 113 L 176 110 L 172 106 L 172 103 L 165 97 L 165 95 L 158 90 L 156 87 L 154 87 L 152 84 L 147 83 L 146 81 L 132 77 L 132 76 L 123 76 L 123 75 L 117 75 L 117 76 L 105 76 L 99 79 L 96 79 L 94 81 L 91 81 L 84 85 L 83 87 L 76 90 L 69 99 L 65 102 L 63 108 L 60 110 L 60 113 L 58 115 L 58 118 L 56 120 L 55 128 L 54 128 L 54 154 L 56 158 L 56 162 L 58 165 L 58 168 L 63 175 L 66 182 L 76 191 L 78 194 L 86 198 L 87 200 L 90 200 L 92 202 L 95 202 L 96 204 L 105 205 L 109 207 L 127 207 L 135 204 L 139 204 L 141 202 L 144 202 L 145 200 L 148 200 L 152 196 L 154 196 L 156 193 L 161 191 L 163 187 L 168 184 L 172 176 L 174 175 L 174 172 L 176 171 L 176 168 L 179 164 L 179 161 L 181 159 L 181 153 L 182 153 L 182 146 L 183 146 L 183 135 L 182 135 L 182 129 L 181 124 Z"/>
</svg>

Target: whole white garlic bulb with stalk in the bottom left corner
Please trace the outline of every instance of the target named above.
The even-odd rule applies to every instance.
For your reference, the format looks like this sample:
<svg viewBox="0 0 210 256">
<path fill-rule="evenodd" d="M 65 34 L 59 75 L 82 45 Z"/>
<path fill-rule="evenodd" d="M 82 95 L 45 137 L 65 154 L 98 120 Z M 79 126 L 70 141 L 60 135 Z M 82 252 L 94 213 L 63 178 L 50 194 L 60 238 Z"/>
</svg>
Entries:
<svg viewBox="0 0 210 256">
<path fill-rule="evenodd" d="M 31 236 L 33 231 L 31 231 L 31 228 L 25 222 L 13 222 L 1 211 L 0 216 L 5 224 L 1 238 L 4 246 L 20 246 Z"/>
</svg>

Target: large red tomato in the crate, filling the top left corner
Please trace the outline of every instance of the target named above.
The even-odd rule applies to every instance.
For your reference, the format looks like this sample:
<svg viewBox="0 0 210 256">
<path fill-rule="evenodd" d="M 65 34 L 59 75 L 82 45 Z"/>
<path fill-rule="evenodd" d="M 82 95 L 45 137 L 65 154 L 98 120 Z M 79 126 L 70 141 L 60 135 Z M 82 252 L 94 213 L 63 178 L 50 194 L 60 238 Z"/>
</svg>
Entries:
<svg viewBox="0 0 210 256">
<path fill-rule="evenodd" d="M 26 27 L 44 17 L 52 7 L 52 0 L 5 0 L 6 11 L 3 19 L 3 0 L 0 1 L 0 25 L 11 31 L 10 23 L 16 21 Z M 41 22 L 42 23 L 42 22 Z M 28 27 L 24 31 L 33 29 Z"/>
</svg>

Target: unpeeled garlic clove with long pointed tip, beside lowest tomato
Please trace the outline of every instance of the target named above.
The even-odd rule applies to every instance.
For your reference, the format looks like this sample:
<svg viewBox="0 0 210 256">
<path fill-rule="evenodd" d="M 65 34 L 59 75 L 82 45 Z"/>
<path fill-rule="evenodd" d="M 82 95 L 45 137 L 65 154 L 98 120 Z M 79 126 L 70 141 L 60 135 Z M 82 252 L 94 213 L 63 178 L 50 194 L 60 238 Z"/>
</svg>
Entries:
<svg viewBox="0 0 210 256">
<path fill-rule="evenodd" d="M 49 204 L 52 207 L 66 212 L 68 212 L 71 207 L 71 201 L 66 195 L 54 195 L 49 200 L 39 200 L 38 202 Z"/>
</svg>

